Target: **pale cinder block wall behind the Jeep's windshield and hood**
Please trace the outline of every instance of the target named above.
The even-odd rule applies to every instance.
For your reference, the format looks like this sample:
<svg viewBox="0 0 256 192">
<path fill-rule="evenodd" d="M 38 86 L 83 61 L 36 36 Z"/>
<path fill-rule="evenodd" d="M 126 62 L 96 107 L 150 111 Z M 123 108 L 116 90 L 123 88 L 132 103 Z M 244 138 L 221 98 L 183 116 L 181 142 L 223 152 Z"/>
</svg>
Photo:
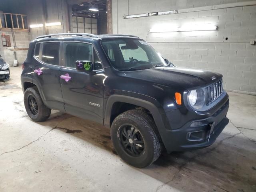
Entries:
<svg viewBox="0 0 256 192">
<path fill-rule="evenodd" d="M 240 6 L 233 3 L 240 2 Z M 224 88 L 256 92 L 256 5 L 243 0 L 112 0 L 113 33 L 144 38 L 177 66 L 223 74 Z M 213 5 L 226 8 L 212 9 Z M 256 4 L 256 3 L 255 3 Z M 210 10 L 196 11 L 206 6 Z M 188 9 L 191 8 L 191 9 Z M 124 15 L 183 10 L 164 16 L 123 19 Z M 188 10 L 185 10 L 188 9 Z M 150 33 L 156 24 L 215 24 L 218 30 Z"/>
</svg>

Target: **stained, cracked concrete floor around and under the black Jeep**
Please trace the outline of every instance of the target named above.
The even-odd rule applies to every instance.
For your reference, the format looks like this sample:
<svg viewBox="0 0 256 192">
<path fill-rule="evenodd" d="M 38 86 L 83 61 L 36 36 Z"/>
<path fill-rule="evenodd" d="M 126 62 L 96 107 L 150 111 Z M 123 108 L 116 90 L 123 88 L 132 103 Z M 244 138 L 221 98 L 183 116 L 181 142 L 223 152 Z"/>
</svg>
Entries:
<svg viewBox="0 0 256 192">
<path fill-rule="evenodd" d="M 109 130 L 53 111 L 26 114 L 21 68 L 0 82 L 0 191 L 256 191 L 256 96 L 229 92 L 230 123 L 205 149 L 163 154 L 136 169 L 114 152 Z"/>
</svg>

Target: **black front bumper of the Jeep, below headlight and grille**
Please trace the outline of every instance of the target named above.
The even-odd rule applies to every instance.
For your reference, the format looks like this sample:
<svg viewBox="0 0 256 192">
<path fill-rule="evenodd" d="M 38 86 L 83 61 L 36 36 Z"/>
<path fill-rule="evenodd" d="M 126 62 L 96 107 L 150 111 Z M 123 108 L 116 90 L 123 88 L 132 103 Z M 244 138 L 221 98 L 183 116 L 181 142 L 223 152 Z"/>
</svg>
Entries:
<svg viewBox="0 0 256 192">
<path fill-rule="evenodd" d="M 162 136 L 167 152 L 204 148 L 213 144 L 229 122 L 226 117 L 228 107 L 227 95 L 211 112 L 204 114 L 196 114 L 194 111 L 185 109 L 167 112 L 166 116 L 172 128 L 172 130 L 166 130 L 166 135 Z M 215 125 L 211 129 L 213 123 Z M 182 126 L 176 128 L 177 124 Z"/>
</svg>

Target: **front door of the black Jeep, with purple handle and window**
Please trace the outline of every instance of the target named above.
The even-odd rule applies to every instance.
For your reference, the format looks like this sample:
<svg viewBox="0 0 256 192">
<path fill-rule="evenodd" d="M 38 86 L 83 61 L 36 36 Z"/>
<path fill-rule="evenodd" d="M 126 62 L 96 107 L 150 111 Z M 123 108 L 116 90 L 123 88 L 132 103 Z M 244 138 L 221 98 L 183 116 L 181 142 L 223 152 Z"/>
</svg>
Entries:
<svg viewBox="0 0 256 192">
<path fill-rule="evenodd" d="M 92 44 L 83 42 L 63 42 L 62 49 L 60 84 L 66 112 L 103 124 L 105 73 L 98 54 Z M 77 60 L 92 61 L 96 74 L 77 72 Z"/>
</svg>

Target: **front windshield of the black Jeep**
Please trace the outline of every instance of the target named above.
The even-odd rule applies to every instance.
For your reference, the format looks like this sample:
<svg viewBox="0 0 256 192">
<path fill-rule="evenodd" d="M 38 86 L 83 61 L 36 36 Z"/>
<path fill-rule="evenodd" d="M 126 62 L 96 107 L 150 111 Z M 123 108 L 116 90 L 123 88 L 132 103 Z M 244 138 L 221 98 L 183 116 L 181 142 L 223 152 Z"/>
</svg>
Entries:
<svg viewBox="0 0 256 192">
<path fill-rule="evenodd" d="M 102 40 L 102 47 L 117 70 L 142 70 L 168 66 L 147 42 L 132 38 Z"/>
</svg>

